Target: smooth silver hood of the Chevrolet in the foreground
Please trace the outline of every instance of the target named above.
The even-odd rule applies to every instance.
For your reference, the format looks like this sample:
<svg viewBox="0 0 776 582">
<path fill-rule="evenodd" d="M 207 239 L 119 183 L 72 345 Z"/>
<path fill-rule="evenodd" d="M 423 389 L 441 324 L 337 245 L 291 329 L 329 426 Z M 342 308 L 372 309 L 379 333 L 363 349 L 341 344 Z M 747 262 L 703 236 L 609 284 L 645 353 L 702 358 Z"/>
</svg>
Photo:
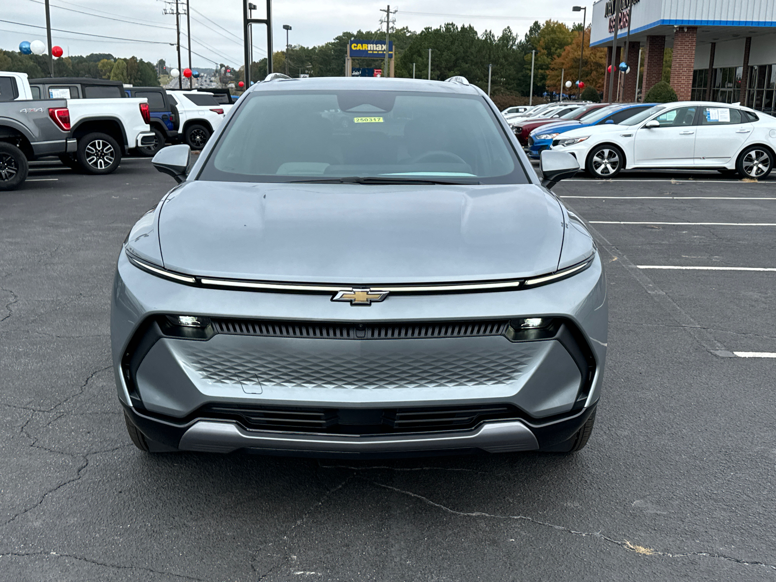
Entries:
<svg viewBox="0 0 776 582">
<path fill-rule="evenodd" d="M 192 181 L 158 218 L 165 268 L 352 284 L 510 279 L 556 270 L 558 201 L 537 185 Z"/>
</svg>

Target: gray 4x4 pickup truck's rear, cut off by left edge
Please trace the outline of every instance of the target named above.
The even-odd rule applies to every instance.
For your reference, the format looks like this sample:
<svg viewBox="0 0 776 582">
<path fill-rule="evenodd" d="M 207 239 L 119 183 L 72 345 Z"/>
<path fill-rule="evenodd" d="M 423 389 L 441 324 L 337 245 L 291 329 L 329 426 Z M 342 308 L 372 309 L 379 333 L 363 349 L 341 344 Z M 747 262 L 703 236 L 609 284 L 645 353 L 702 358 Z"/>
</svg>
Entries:
<svg viewBox="0 0 776 582">
<path fill-rule="evenodd" d="M 72 153 L 78 147 L 70 137 L 66 99 L 16 99 L 13 86 L 0 77 L 0 191 L 24 183 L 27 162 L 42 156 Z M 18 96 L 18 95 L 16 95 Z"/>
</svg>

